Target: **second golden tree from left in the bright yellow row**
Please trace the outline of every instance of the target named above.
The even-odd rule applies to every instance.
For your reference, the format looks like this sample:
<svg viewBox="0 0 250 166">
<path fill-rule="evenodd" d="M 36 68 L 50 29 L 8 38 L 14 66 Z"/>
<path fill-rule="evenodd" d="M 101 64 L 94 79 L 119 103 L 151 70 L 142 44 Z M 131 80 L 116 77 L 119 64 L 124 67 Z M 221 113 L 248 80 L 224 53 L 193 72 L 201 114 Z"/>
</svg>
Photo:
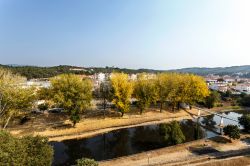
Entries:
<svg viewBox="0 0 250 166">
<path fill-rule="evenodd" d="M 135 82 L 134 96 L 141 114 L 151 103 L 155 102 L 156 88 L 153 81 L 146 74 L 140 74 Z"/>
</svg>

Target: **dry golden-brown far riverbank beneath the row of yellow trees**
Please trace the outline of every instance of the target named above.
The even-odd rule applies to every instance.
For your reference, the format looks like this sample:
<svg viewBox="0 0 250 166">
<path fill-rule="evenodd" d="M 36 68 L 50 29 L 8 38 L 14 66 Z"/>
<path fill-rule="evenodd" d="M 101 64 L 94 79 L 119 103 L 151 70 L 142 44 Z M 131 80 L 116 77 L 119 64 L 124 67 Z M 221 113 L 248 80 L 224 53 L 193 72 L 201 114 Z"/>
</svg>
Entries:
<svg viewBox="0 0 250 166">
<path fill-rule="evenodd" d="M 238 108 L 240 109 L 240 108 Z M 216 108 L 214 112 L 225 112 L 235 110 L 233 107 Z M 55 121 L 54 123 L 34 123 L 30 122 L 25 126 L 16 126 L 9 128 L 9 131 L 17 136 L 24 135 L 41 135 L 49 138 L 50 141 L 63 141 L 68 139 L 80 139 L 92 137 L 98 134 L 106 133 L 121 128 L 130 128 L 136 126 L 150 125 L 169 122 L 173 120 L 192 119 L 197 116 L 198 110 L 180 110 L 178 112 L 169 112 L 159 110 L 147 111 L 142 115 L 125 114 L 124 117 L 94 117 L 83 119 L 76 125 L 71 127 L 68 120 Z M 207 112 L 201 112 L 201 115 L 208 115 Z"/>
</svg>

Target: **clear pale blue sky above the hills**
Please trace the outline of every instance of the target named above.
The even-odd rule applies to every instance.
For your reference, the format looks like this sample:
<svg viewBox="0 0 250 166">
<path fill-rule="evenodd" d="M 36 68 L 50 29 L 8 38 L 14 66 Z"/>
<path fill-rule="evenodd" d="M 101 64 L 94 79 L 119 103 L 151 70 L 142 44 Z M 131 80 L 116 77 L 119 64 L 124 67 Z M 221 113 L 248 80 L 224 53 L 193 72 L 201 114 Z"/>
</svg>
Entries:
<svg viewBox="0 0 250 166">
<path fill-rule="evenodd" d="M 250 1 L 0 0 L 0 64 L 250 64 Z"/>
</svg>

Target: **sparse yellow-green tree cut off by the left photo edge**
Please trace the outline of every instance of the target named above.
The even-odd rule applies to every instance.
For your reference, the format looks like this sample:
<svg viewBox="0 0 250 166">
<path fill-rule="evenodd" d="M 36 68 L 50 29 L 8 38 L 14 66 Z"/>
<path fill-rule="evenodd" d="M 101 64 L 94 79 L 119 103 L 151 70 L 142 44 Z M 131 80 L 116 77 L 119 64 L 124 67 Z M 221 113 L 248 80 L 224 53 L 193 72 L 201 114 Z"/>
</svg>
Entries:
<svg viewBox="0 0 250 166">
<path fill-rule="evenodd" d="M 25 78 L 0 68 L 0 120 L 4 129 L 12 117 L 34 105 L 34 89 L 23 87 L 25 81 Z"/>
</svg>

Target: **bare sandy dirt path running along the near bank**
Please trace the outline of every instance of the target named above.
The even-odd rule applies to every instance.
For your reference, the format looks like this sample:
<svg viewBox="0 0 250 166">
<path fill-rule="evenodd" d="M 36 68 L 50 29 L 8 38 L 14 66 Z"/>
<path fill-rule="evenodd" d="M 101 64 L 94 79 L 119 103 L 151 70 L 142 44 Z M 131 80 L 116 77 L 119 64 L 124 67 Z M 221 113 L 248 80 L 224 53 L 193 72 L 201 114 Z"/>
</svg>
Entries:
<svg viewBox="0 0 250 166">
<path fill-rule="evenodd" d="M 205 146 L 204 146 L 205 145 Z M 197 155 L 192 153 L 191 147 L 212 147 L 219 152 Z M 146 166 L 146 165 L 199 165 L 201 163 L 216 161 L 217 157 L 231 157 L 235 155 L 249 154 L 250 148 L 246 143 L 235 141 L 233 143 L 217 143 L 213 140 L 198 140 L 185 144 L 166 147 L 158 150 L 139 153 L 127 157 L 121 157 L 109 161 L 100 162 L 100 166 Z"/>
</svg>

